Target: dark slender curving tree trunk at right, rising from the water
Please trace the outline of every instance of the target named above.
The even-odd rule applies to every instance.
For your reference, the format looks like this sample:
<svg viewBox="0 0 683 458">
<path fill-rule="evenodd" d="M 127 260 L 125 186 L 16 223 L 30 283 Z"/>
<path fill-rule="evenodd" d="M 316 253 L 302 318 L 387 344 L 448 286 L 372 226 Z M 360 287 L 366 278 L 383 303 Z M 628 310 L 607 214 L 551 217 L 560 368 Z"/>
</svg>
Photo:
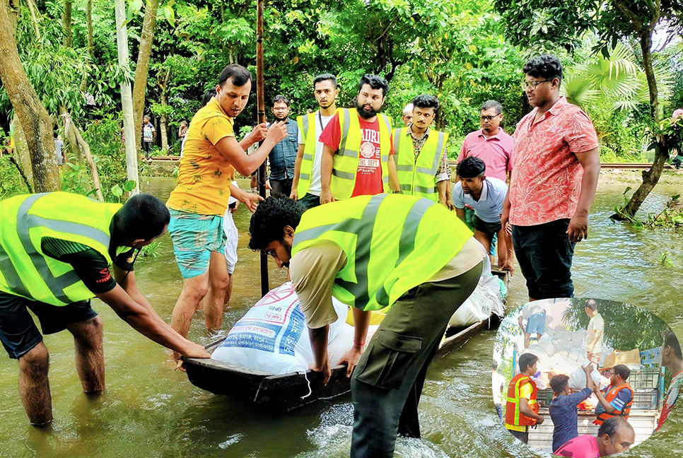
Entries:
<svg viewBox="0 0 683 458">
<path fill-rule="evenodd" d="M 643 52 L 643 69 L 648 77 L 648 89 L 650 90 L 650 117 L 652 123 L 655 124 L 659 121 L 659 93 L 657 90 L 655 71 L 652 66 L 652 52 L 650 52 L 650 49 L 652 48 L 652 31 L 648 28 L 643 28 L 639 35 L 641 51 Z M 652 164 L 652 168 L 643 172 L 643 182 L 638 189 L 636 189 L 634 195 L 631 196 L 629 203 L 624 206 L 623 213 L 625 216 L 630 216 L 631 218 L 636 216 L 636 212 L 641 208 L 643 201 L 645 201 L 648 194 L 650 194 L 655 185 L 659 182 L 659 179 L 662 176 L 662 170 L 664 170 L 664 165 L 668 158 L 668 148 L 661 143 L 658 144 L 657 149 L 655 150 L 655 160 Z M 624 221 L 626 218 L 619 215 L 619 213 L 615 213 L 612 215 L 612 219 Z"/>
</svg>

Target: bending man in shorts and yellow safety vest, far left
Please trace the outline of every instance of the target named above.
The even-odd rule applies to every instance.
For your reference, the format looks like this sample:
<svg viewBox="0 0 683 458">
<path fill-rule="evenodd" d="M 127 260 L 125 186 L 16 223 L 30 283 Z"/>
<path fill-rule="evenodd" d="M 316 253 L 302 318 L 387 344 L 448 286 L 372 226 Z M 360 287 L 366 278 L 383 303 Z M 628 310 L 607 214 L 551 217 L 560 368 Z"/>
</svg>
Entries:
<svg viewBox="0 0 683 458">
<path fill-rule="evenodd" d="M 19 361 L 19 393 L 33 425 L 52 421 L 49 356 L 43 334 L 68 329 L 86 393 L 105 389 L 99 298 L 136 331 L 184 356 L 209 358 L 201 345 L 174 331 L 136 287 L 134 249 L 162 235 L 168 209 L 154 196 L 102 204 L 86 196 L 51 192 L 0 202 L 0 340 Z M 110 267 L 112 269 L 110 270 Z"/>
</svg>

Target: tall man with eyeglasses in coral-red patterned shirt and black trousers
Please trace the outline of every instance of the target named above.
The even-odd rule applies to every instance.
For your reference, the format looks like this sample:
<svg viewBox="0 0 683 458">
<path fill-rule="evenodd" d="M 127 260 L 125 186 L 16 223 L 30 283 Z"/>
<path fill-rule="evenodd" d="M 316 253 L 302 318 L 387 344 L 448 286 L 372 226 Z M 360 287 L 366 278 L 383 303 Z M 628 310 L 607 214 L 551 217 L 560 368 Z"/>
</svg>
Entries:
<svg viewBox="0 0 683 458">
<path fill-rule="evenodd" d="M 600 173 L 597 135 L 588 116 L 560 95 L 556 56 L 533 57 L 524 73 L 534 110 L 513 135 L 515 168 L 501 223 L 512 234 L 529 299 L 571 298 L 574 247 L 588 238 Z"/>
</svg>

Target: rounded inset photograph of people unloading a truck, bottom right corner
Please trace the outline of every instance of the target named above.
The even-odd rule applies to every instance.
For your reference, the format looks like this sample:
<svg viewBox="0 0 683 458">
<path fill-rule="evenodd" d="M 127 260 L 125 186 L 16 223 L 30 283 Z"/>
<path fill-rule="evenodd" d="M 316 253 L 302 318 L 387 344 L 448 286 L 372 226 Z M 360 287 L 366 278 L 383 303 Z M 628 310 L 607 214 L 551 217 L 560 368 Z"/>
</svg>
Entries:
<svg viewBox="0 0 683 458">
<path fill-rule="evenodd" d="M 683 357 L 677 336 L 646 310 L 561 298 L 527 303 L 503 319 L 492 369 L 508 433 L 561 457 L 606 457 L 666 421 Z"/>
</svg>

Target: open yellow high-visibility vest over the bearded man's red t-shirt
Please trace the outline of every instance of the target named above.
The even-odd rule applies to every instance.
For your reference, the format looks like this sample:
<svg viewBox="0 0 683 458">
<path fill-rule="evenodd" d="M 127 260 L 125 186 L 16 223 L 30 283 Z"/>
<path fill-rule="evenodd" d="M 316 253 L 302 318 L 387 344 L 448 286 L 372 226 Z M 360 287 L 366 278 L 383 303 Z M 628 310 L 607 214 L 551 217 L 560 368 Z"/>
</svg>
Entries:
<svg viewBox="0 0 683 458">
<path fill-rule="evenodd" d="M 356 187 L 356 175 L 358 172 L 358 156 L 361 150 L 361 123 L 358 121 L 358 112 L 343 108 L 339 113 L 339 128 L 342 131 L 342 139 L 339 148 L 334 153 L 332 163 L 332 177 L 330 189 L 334 199 L 349 199 Z M 380 160 L 382 167 L 383 192 L 389 192 L 389 153 L 391 151 L 391 122 L 384 114 L 378 114 L 380 119 Z"/>
</svg>

